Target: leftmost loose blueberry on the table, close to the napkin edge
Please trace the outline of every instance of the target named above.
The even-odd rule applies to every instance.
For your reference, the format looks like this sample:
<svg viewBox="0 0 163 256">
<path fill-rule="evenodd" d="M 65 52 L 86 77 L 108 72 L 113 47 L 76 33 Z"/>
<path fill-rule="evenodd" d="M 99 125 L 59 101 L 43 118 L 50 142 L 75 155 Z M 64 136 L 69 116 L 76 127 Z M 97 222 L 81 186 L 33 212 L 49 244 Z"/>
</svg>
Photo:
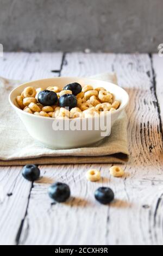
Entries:
<svg viewBox="0 0 163 256">
<path fill-rule="evenodd" d="M 35 164 L 27 164 L 22 169 L 22 175 L 29 181 L 34 181 L 40 177 L 40 169 Z"/>
</svg>

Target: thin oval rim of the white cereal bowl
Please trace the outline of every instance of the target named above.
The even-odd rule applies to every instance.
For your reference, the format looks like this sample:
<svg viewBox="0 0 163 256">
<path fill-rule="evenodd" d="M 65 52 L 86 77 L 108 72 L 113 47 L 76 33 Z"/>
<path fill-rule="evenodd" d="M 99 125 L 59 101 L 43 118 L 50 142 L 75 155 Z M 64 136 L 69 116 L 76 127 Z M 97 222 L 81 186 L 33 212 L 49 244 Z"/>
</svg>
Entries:
<svg viewBox="0 0 163 256">
<path fill-rule="evenodd" d="M 51 118 L 51 117 L 43 117 L 43 116 L 40 116 L 40 115 L 34 115 L 34 114 L 30 114 L 30 113 L 27 113 L 26 111 L 23 111 L 22 109 L 20 109 L 20 108 L 18 108 L 13 102 L 12 102 L 12 100 L 11 100 L 11 95 L 12 95 L 12 93 L 14 93 L 14 91 L 16 90 L 16 89 L 18 89 L 19 87 L 21 87 L 21 86 L 25 86 L 26 84 L 29 84 L 30 82 L 39 82 L 39 81 L 43 81 L 43 80 L 52 80 L 52 79 L 54 79 L 54 80 L 60 80 L 60 79 L 62 79 L 62 78 L 64 78 L 64 79 L 70 79 L 70 78 L 72 78 L 72 79 L 74 79 L 74 80 L 79 80 L 79 79 L 81 79 L 81 80 L 90 80 L 90 81 L 98 81 L 99 83 L 100 82 L 105 82 L 105 83 L 109 83 L 110 85 L 112 85 L 112 86 L 115 86 L 115 87 L 117 87 L 118 89 L 121 89 L 121 90 L 123 90 L 123 92 L 124 93 L 126 93 L 126 96 L 127 96 L 127 100 L 126 100 L 126 103 L 124 103 L 124 106 L 123 107 L 121 107 L 121 105 L 120 105 L 120 108 L 118 108 L 118 109 L 116 109 L 115 111 L 113 111 L 113 112 L 110 112 L 110 114 L 111 115 L 114 115 L 115 114 L 115 112 L 116 113 L 118 113 L 118 112 L 121 112 L 124 108 L 126 108 L 126 106 L 128 105 L 128 102 L 129 102 L 129 95 L 128 95 L 128 93 L 126 92 L 126 90 L 124 90 L 122 87 L 120 87 L 120 86 L 118 86 L 117 84 L 115 84 L 115 83 L 111 83 L 111 82 L 108 82 L 108 81 L 104 81 L 104 80 L 97 80 L 97 79 L 95 79 L 95 78 L 87 78 L 87 77 L 71 77 L 71 76 L 62 76 L 62 77 L 49 77 L 49 78 L 42 78 L 42 79 L 37 79 L 37 80 L 32 80 L 32 81 L 29 81 L 29 82 L 26 82 L 26 83 L 22 83 L 22 84 L 20 84 L 19 86 L 17 86 L 16 88 L 14 88 L 14 89 L 12 89 L 11 90 L 11 92 L 10 92 L 10 94 L 9 94 L 9 102 L 10 102 L 10 105 L 16 110 L 16 111 L 18 111 L 18 112 L 20 112 L 20 113 L 23 113 L 23 114 L 26 114 L 26 115 L 30 115 L 30 117 L 33 117 L 33 118 L 45 118 L 46 120 L 47 119 L 49 119 L 49 120 L 52 120 L 52 119 L 54 119 L 54 118 Z M 17 95 L 18 96 L 18 95 Z M 109 114 L 109 113 L 105 113 L 105 114 Z M 79 118 L 76 118 L 76 119 L 89 119 L 89 118 L 98 118 L 98 117 L 79 117 Z M 60 119 L 60 118 L 55 118 L 55 119 L 57 119 L 57 120 L 67 120 L 67 119 Z M 72 118 L 72 119 L 70 119 L 70 120 L 74 120 L 74 118 Z"/>
</svg>

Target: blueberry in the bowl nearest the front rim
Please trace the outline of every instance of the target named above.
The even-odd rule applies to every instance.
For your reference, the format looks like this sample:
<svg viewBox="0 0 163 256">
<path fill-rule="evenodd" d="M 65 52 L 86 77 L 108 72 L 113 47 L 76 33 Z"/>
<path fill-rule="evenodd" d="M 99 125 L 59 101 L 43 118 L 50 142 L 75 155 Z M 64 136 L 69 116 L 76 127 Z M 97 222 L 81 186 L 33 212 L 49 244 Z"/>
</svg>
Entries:
<svg viewBox="0 0 163 256">
<path fill-rule="evenodd" d="M 69 109 L 77 106 L 76 96 L 73 94 L 64 94 L 59 98 L 59 106 L 67 107 Z"/>
</svg>

